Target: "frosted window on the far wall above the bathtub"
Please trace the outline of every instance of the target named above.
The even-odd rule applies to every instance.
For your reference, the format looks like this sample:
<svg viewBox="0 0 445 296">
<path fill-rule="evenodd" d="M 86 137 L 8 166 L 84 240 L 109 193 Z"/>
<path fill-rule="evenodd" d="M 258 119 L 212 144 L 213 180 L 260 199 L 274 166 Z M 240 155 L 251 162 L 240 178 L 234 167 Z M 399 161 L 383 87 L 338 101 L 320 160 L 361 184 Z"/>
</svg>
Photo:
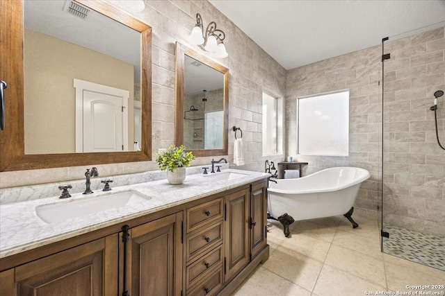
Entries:
<svg viewBox="0 0 445 296">
<path fill-rule="evenodd" d="M 349 154 L 349 90 L 298 98 L 298 154 Z"/>
</svg>

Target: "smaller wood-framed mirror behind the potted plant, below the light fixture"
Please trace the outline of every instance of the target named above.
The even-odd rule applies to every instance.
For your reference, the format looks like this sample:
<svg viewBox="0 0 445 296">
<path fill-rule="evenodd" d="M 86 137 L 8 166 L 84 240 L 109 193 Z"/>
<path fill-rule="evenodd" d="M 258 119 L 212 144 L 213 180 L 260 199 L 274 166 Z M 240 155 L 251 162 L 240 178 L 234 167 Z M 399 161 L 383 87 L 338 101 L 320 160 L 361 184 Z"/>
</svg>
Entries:
<svg viewBox="0 0 445 296">
<path fill-rule="evenodd" d="M 176 43 L 175 144 L 196 156 L 227 155 L 229 69 Z"/>
</svg>

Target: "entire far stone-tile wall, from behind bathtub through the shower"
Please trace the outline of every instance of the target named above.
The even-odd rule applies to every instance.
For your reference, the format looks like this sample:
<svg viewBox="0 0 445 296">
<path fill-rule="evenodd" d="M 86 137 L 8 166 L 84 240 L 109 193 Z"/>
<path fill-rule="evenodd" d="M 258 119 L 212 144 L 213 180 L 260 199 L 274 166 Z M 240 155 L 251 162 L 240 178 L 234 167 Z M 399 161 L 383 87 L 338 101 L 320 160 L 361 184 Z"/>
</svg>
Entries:
<svg viewBox="0 0 445 296">
<path fill-rule="evenodd" d="M 445 89 L 444 28 L 385 42 L 384 220 L 385 223 L 445 236 L 445 151 L 437 145 L 432 94 Z M 382 46 L 341 55 L 288 71 L 287 153 L 309 162 L 306 173 L 332 166 L 371 172 L 362 184 L 355 212 L 377 217 L 382 151 Z M 299 96 L 350 89 L 350 155 L 296 155 Z M 439 98 L 439 137 L 445 142 L 445 99 Z M 381 208 L 380 208 L 381 209 Z"/>
</svg>

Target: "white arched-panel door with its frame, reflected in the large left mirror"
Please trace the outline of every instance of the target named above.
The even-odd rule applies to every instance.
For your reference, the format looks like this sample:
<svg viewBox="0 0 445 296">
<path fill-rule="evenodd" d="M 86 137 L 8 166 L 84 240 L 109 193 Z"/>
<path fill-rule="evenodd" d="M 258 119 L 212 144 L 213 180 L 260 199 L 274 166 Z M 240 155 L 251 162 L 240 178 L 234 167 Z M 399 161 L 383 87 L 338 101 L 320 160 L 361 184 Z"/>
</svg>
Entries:
<svg viewBox="0 0 445 296">
<path fill-rule="evenodd" d="M 129 91 L 74 79 L 76 153 L 128 151 Z"/>
</svg>

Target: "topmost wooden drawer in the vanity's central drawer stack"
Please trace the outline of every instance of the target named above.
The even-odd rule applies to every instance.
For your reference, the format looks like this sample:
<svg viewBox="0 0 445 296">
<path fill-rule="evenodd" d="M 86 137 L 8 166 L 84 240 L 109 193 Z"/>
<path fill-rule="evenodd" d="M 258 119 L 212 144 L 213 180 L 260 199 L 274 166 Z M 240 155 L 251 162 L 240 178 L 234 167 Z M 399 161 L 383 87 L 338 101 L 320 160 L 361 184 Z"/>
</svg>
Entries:
<svg viewBox="0 0 445 296">
<path fill-rule="evenodd" d="M 223 206 L 223 198 L 218 198 L 187 209 L 187 232 L 223 218 Z"/>
</svg>

